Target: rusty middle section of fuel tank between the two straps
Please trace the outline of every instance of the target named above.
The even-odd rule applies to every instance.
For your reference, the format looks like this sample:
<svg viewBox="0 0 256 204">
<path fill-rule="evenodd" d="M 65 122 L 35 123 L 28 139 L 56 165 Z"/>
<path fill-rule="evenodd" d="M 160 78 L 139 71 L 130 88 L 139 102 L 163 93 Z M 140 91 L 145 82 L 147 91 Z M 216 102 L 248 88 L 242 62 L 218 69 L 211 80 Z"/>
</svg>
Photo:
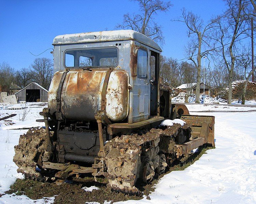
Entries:
<svg viewBox="0 0 256 204">
<path fill-rule="evenodd" d="M 69 119 L 95 120 L 100 84 L 106 72 L 72 70 L 62 89 L 62 113 Z"/>
</svg>

